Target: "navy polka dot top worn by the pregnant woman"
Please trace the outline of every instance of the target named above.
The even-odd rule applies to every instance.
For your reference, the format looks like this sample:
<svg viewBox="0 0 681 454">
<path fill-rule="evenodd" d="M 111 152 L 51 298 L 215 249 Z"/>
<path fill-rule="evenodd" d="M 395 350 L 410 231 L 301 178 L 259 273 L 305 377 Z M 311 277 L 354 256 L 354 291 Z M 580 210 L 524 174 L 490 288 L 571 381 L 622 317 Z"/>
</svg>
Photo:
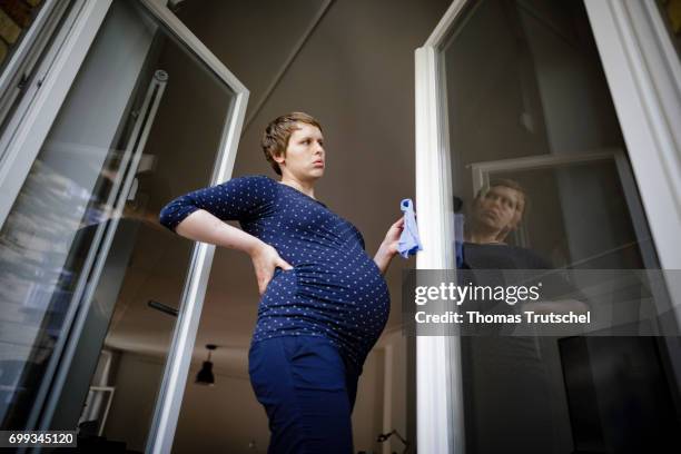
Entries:
<svg viewBox="0 0 681 454">
<path fill-rule="evenodd" d="M 160 223 L 175 231 L 197 209 L 238 220 L 294 268 L 277 268 L 258 306 L 253 343 L 312 335 L 328 338 L 358 366 L 389 314 L 385 280 L 362 234 L 323 203 L 266 176 L 234 178 L 176 198 Z"/>
</svg>

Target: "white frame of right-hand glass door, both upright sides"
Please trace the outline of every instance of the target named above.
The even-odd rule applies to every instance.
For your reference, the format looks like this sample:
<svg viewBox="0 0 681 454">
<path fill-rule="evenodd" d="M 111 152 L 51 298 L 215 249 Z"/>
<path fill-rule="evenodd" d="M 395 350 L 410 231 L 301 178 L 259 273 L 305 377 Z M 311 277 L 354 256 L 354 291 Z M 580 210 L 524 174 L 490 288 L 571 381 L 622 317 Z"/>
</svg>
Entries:
<svg viewBox="0 0 681 454">
<path fill-rule="evenodd" d="M 454 0 L 415 52 L 416 268 L 455 268 L 446 89 L 441 51 L 470 0 Z M 585 0 L 662 268 L 681 269 L 681 63 L 652 1 Z M 669 283 L 681 304 L 681 283 Z M 681 325 L 681 312 L 677 312 Z M 461 344 L 417 337 L 418 451 L 464 453 Z"/>
</svg>

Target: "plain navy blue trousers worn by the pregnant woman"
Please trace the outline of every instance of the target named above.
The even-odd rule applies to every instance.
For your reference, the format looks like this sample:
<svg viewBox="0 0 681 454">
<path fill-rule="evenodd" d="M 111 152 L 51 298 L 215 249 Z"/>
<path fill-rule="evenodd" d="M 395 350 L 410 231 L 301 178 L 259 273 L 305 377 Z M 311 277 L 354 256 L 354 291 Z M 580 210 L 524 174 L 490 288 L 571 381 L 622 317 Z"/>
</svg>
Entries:
<svg viewBox="0 0 681 454">
<path fill-rule="evenodd" d="M 361 371 L 320 336 L 260 340 L 250 384 L 269 420 L 268 454 L 352 454 L 351 414 Z"/>
</svg>

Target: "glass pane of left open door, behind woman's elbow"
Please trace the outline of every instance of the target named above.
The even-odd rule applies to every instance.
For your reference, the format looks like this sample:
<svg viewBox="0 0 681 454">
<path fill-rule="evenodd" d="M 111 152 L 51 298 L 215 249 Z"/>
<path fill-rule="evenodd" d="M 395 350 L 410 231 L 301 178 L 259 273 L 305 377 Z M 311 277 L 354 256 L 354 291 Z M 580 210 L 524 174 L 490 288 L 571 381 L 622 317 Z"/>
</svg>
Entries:
<svg viewBox="0 0 681 454">
<path fill-rule="evenodd" d="M 177 320 L 151 306 L 178 308 L 193 247 L 158 213 L 210 181 L 233 101 L 139 2 L 114 1 L 0 233 L 2 428 L 51 402 L 79 446 L 144 451 Z"/>
</svg>

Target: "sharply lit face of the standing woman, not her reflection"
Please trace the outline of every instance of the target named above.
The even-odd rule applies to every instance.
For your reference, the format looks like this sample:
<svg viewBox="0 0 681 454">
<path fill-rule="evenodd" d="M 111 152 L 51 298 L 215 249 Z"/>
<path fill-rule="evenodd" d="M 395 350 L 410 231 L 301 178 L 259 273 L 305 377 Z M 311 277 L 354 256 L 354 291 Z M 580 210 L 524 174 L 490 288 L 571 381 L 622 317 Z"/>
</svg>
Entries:
<svg viewBox="0 0 681 454">
<path fill-rule="evenodd" d="M 324 175 L 326 152 L 324 136 L 316 126 L 298 122 L 288 139 L 286 154 L 276 156 L 283 177 L 297 180 L 316 180 Z"/>
</svg>

